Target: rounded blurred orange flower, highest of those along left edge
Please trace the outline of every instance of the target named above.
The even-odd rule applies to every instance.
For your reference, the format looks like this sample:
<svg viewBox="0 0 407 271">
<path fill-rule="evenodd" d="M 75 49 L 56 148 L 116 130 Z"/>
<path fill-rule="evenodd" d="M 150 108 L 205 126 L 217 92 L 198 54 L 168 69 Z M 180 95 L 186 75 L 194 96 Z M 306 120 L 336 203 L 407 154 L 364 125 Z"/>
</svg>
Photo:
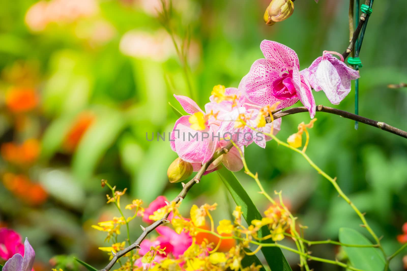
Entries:
<svg viewBox="0 0 407 271">
<path fill-rule="evenodd" d="M 12 88 L 6 93 L 6 105 L 11 112 L 22 113 L 34 109 L 39 98 L 32 88 Z"/>
</svg>

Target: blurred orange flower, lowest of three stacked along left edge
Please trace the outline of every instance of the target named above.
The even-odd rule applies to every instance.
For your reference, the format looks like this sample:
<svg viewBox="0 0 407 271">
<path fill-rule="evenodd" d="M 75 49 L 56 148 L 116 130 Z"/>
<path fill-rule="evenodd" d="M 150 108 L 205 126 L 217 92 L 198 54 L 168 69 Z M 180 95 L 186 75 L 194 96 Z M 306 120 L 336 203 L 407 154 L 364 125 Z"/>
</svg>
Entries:
<svg viewBox="0 0 407 271">
<path fill-rule="evenodd" d="M 11 193 L 29 205 L 40 205 L 44 203 L 48 197 L 47 192 L 41 184 L 32 182 L 25 175 L 5 173 L 3 176 L 3 184 Z"/>
</svg>

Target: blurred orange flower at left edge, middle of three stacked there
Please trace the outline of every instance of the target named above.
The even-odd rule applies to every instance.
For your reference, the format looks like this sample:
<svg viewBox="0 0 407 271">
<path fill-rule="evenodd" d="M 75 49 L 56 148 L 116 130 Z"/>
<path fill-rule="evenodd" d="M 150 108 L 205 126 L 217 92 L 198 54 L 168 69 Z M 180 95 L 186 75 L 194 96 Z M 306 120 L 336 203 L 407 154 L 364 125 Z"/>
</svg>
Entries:
<svg viewBox="0 0 407 271">
<path fill-rule="evenodd" d="M 26 165 L 35 162 L 40 151 L 41 146 L 37 139 L 28 139 L 21 145 L 13 142 L 1 145 L 2 158 L 15 165 Z"/>
</svg>

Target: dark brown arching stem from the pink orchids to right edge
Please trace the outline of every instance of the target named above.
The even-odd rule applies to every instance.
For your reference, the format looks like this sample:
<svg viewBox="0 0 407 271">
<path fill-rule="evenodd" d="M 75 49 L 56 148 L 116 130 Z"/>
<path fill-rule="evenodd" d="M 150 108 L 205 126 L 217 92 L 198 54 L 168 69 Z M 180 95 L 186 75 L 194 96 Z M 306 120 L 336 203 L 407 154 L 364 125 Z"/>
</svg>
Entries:
<svg viewBox="0 0 407 271">
<path fill-rule="evenodd" d="M 352 114 L 348 111 L 343 111 L 343 110 L 339 110 L 336 108 L 332 108 L 332 107 L 328 107 L 328 106 L 323 106 L 322 104 L 318 105 L 316 107 L 316 111 L 317 112 L 325 112 L 325 113 L 330 113 L 330 114 L 334 114 L 334 115 L 339 115 L 341 117 L 344 117 L 346 119 L 352 119 L 354 121 L 359 121 L 361 123 L 379 128 L 381 130 L 387 131 L 387 132 L 391 132 L 392 134 L 397 134 L 400 137 L 404 137 L 407 138 L 407 132 L 400 130 L 396 127 L 393 127 L 391 125 L 388 125 L 384 122 L 381 121 L 375 121 L 373 119 L 368 119 L 366 117 L 362 117 L 359 115 L 355 115 Z M 304 106 L 301 107 L 294 107 L 294 108 L 290 108 L 287 109 L 285 111 L 282 111 L 280 113 L 275 113 L 273 114 L 274 119 L 278 119 L 280 117 L 284 117 L 287 115 L 293 115 L 293 114 L 297 114 L 297 113 L 302 113 L 302 112 L 308 112 L 308 109 Z M 271 122 L 271 118 L 270 117 L 266 117 L 266 121 L 269 123 Z"/>
</svg>

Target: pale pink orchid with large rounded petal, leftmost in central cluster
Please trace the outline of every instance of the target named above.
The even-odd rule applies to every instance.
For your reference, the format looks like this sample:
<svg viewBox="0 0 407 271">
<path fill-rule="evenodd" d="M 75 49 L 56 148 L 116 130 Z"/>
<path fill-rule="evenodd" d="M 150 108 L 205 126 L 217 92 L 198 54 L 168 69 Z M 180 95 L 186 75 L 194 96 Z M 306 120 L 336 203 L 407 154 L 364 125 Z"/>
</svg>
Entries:
<svg viewBox="0 0 407 271">
<path fill-rule="evenodd" d="M 230 91 L 230 89 L 226 89 L 225 93 L 228 93 L 228 91 Z M 217 118 L 214 118 L 213 116 L 209 117 L 205 123 L 205 129 L 200 131 L 194 130 L 190 127 L 190 115 L 182 116 L 175 122 L 173 132 L 171 133 L 171 149 L 176 152 L 182 160 L 192 163 L 194 171 L 198 171 L 201 168 L 201 165 L 208 162 L 215 151 L 223 145 L 221 144 L 223 141 L 221 140 L 221 137 L 223 135 L 221 134 L 219 137 L 218 134 L 219 126 L 222 123 L 219 119 L 228 113 L 228 107 L 221 106 L 216 102 L 210 102 L 205 106 L 205 113 L 192 99 L 179 95 L 174 95 L 174 97 L 188 114 L 193 115 L 197 112 L 203 114 L 209 114 L 211 112 L 219 113 Z M 230 106 L 232 105 L 230 104 Z M 194 137 L 195 134 L 197 134 L 197 137 Z M 240 156 L 236 157 L 232 154 L 237 152 L 237 150 L 232 149 L 228 154 L 223 155 L 222 163 L 231 171 L 239 171 L 242 169 L 243 163 L 241 162 Z M 228 167 L 229 165 L 234 166 Z M 217 165 L 211 164 L 206 173 L 212 172 L 216 169 Z"/>
</svg>

